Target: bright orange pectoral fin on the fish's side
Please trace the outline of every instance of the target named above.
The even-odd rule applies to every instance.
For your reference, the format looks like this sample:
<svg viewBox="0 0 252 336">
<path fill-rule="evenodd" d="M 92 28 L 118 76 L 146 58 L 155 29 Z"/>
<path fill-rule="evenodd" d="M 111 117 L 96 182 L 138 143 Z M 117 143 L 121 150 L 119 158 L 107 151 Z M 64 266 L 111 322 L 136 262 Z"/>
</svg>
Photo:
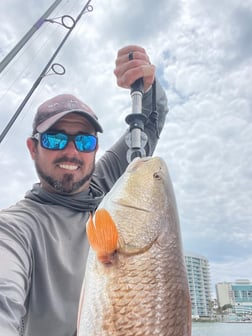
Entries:
<svg viewBox="0 0 252 336">
<path fill-rule="evenodd" d="M 103 263 L 109 263 L 109 256 L 117 249 L 118 230 L 107 210 L 98 209 L 94 221 L 90 216 L 87 223 L 87 237 L 98 259 Z"/>
</svg>

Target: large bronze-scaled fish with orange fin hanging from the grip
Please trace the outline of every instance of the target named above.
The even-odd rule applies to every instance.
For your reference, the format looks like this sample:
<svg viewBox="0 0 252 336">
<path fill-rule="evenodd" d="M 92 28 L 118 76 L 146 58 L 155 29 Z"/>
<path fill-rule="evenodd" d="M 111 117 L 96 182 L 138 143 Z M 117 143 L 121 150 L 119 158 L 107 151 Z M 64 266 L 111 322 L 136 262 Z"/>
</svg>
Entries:
<svg viewBox="0 0 252 336">
<path fill-rule="evenodd" d="M 78 336 L 190 336 L 191 301 L 168 167 L 135 158 L 90 216 Z"/>
</svg>

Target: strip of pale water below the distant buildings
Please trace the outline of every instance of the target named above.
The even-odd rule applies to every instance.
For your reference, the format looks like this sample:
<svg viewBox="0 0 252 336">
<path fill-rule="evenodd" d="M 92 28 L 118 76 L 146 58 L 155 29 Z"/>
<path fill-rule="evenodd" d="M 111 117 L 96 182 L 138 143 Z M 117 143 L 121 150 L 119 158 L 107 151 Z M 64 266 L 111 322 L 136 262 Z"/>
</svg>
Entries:
<svg viewBox="0 0 252 336">
<path fill-rule="evenodd" d="M 194 322 L 192 336 L 252 336 L 252 323 Z"/>
</svg>

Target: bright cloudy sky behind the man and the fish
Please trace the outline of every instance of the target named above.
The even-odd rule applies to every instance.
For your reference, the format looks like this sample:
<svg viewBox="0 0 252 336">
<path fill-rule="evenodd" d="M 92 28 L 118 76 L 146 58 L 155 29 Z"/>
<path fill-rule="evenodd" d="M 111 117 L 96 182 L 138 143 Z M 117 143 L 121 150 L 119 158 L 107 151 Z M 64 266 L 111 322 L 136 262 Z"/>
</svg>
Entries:
<svg viewBox="0 0 252 336">
<path fill-rule="evenodd" d="M 53 0 L 0 2 L 0 60 Z M 0 74 L 0 132 L 29 93 L 85 1 L 62 0 Z M 98 158 L 125 130 L 129 90 L 113 74 L 117 51 L 146 49 L 169 114 L 154 155 L 167 163 L 183 246 L 209 260 L 211 282 L 252 281 L 252 0 L 92 0 L 0 143 L 0 208 L 37 182 L 26 139 L 36 108 L 60 93 L 90 105 L 104 128 Z M 66 19 L 65 23 L 70 22 Z M 62 68 L 57 67 L 57 70 Z"/>
</svg>

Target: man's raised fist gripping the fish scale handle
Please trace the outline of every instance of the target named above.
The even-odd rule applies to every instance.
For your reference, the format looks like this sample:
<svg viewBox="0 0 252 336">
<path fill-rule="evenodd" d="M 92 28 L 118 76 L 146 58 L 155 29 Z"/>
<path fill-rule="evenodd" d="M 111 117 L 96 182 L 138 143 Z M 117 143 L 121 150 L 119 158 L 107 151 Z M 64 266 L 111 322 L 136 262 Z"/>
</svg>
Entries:
<svg viewBox="0 0 252 336">
<path fill-rule="evenodd" d="M 132 59 L 129 59 L 131 53 Z M 130 88 L 138 78 L 143 77 L 144 91 L 153 83 L 155 77 L 155 66 L 150 63 L 149 56 L 144 48 L 130 45 L 120 49 L 115 61 L 114 74 L 117 84 L 123 88 Z"/>
</svg>

